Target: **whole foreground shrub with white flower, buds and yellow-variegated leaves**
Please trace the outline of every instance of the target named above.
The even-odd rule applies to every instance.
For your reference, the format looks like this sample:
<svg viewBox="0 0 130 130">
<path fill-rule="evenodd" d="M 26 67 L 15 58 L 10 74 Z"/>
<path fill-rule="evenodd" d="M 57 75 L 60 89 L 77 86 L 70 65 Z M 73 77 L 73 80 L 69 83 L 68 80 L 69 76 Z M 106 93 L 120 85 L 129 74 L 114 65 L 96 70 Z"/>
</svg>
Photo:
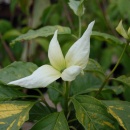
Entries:
<svg viewBox="0 0 130 130">
<path fill-rule="evenodd" d="M 11 42 L 15 45 L 36 42 L 39 37 L 51 38 L 47 64 L 38 67 L 32 62 L 15 61 L 0 70 L 1 130 L 22 129 L 26 121 L 32 123 L 31 130 L 130 129 L 130 102 L 121 98 L 130 87 L 130 78 L 114 77 L 128 54 L 130 29 L 126 31 L 122 21 L 117 26 L 122 42 L 107 33 L 92 31 L 95 20 L 81 35 L 84 1 L 70 0 L 69 7 L 79 19 L 78 37 L 69 27 L 55 25 L 29 30 Z M 59 36 L 71 37 L 75 42 L 70 41 L 66 49 Z M 121 47 L 119 58 L 107 74 L 96 59 L 90 58 L 92 42 L 99 39 Z"/>
</svg>

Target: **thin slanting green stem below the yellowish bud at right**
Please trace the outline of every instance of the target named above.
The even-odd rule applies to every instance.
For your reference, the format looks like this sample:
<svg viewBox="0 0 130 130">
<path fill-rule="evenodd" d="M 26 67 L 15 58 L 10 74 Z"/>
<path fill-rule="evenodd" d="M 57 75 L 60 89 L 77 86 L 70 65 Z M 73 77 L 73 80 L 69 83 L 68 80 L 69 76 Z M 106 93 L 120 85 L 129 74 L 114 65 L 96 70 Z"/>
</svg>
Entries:
<svg viewBox="0 0 130 130">
<path fill-rule="evenodd" d="M 105 87 L 106 83 L 108 82 L 109 78 L 111 77 L 111 75 L 114 73 L 114 71 L 116 70 L 117 66 L 119 65 L 124 53 L 125 53 L 125 50 L 127 48 L 127 46 L 129 45 L 129 42 L 126 43 L 122 53 L 121 53 L 121 56 L 120 58 L 118 59 L 116 65 L 114 66 L 114 68 L 112 69 L 112 71 L 110 72 L 110 74 L 106 77 L 106 79 L 104 80 L 104 82 L 102 83 L 101 87 L 99 88 L 98 92 L 96 93 L 96 96 L 97 97 L 99 95 L 99 93 L 102 91 L 102 89 Z"/>
</svg>

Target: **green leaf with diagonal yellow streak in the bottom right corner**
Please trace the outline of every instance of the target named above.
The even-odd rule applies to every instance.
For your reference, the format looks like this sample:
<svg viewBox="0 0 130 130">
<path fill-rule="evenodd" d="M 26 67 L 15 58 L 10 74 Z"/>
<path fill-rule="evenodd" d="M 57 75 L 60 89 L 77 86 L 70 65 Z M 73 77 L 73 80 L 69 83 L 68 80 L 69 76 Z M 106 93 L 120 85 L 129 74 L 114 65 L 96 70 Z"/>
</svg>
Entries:
<svg viewBox="0 0 130 130">
<path fill-rule="evenodd" d="M 126 101 L 103 101 L 108 112 L 118 121 L 124 130 L 130 129 L 130 102 Z"/>
</svg>

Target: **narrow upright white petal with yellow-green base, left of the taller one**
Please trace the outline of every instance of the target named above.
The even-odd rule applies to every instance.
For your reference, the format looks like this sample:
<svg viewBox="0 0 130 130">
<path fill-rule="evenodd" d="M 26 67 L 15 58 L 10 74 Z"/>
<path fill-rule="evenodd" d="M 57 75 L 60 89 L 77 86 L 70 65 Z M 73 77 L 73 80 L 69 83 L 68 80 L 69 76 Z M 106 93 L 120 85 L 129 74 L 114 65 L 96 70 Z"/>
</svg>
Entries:
<svg viewBox="0 0 130 130">
<path fill-rule="evenodd" d="M 62 54 L 59 42 L 57 40 L 57 30 L 50 42 L 48 49 L 48 57 L 51 65 L 57 70 L 63 70 L 65 68 L 65 58 Z"/>
</svg>

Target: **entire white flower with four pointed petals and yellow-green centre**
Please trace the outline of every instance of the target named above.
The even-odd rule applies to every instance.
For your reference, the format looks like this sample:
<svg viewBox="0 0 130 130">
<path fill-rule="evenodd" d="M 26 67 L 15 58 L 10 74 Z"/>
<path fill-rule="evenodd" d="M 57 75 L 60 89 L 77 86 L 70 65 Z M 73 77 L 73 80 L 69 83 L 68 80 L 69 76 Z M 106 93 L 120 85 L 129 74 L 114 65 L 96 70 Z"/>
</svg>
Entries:
<svg viewBox="0 0 130 130">
<path fill-rule="evenodd" d="M 70 47 L 65 58 L 57 40 L 57 31 L 55 31 L 48 50 L 51 65 L 43 65 L 35 70 L 32 75 L 8 84 L 25 88 L 39 88 L 46 87 L 59 78 L 64 81 L 74 80 L 87 65 L 93 25 L 94 21 L 89 24 L 82 37 Z"/>
</svg>

